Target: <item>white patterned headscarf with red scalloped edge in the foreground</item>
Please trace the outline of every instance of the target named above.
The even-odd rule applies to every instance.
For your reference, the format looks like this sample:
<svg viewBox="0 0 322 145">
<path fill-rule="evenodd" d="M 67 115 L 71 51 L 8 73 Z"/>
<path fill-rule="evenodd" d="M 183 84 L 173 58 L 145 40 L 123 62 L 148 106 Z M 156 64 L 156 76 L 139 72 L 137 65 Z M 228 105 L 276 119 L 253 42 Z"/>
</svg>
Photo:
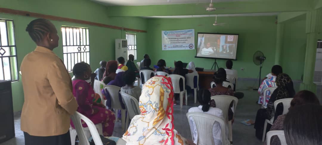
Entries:
<svg viewBox="0 0 322 145">
<path fill-rule="evenodd" d="M 142 88 L 140 115 L 131 120 L 122 139 L 126 145 L 188 145 L 174 129 L 173 87 L 171 79 L 156 76 Z"/>
</svg>

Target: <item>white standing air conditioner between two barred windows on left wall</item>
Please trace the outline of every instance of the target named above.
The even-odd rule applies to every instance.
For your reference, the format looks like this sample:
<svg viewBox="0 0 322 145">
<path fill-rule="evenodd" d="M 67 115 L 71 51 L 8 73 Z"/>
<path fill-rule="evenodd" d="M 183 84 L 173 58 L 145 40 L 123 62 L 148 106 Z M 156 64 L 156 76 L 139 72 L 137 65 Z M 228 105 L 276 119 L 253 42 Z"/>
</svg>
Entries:
<svg viewBox="0 0 322 145">
<path fill-rule="evenodd" d="M 123 56 L 125 62 L 128 62 L 128 40 L 126 39 L 115 39 L 115 59 Z"/>
</svg>

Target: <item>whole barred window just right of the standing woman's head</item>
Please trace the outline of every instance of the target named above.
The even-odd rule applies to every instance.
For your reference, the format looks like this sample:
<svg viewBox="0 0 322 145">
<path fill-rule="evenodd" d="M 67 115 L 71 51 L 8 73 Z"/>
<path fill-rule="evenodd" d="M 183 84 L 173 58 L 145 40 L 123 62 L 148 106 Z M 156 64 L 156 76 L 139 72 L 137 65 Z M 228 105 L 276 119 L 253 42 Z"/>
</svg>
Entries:
<svg viewBox="0 0 322 145">
<path fill-rule="evenodd" d="M 89 29 L 62 26 L 62 47 L 64 64 L 71 72 L 76 63 L 90 64 Z"/>
</svg>

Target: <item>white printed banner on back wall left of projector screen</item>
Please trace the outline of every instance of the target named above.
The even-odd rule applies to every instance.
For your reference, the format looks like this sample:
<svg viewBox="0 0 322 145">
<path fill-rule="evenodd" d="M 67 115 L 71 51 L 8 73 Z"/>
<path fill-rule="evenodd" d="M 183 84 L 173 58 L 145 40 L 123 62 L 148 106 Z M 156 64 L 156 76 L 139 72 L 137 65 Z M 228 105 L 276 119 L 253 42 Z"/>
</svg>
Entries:
<svg viewBox="0 0 322 145">
<path fill-rule="evenodd" d="M 162 50 L 193 50 L 194 29 L 162 31 Z"/>
</svg>

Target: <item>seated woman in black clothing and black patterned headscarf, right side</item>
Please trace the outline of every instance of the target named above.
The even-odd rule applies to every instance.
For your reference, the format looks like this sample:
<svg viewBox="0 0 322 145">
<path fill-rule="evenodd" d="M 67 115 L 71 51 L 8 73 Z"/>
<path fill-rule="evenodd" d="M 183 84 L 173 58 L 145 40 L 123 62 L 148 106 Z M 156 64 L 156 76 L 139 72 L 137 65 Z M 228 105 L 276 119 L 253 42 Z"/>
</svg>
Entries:
<svg viewBox="0 0 322 145">
<path fill-rule="evenodd" d="M 277 88 L 272 93 L 270 100 L 267 103 L 267 108 L 258 110 L 256 114 L 254 128 L 256 129 L 256 137 L 260 140 L 262 140 L 262 137 L 263 137 L 265 120 L 266 119 L 270 120 L 274 116 L 275 116 L 274 119 L 277 119 L 277 116 L 281 115 L 283 112 L 283 106 L 281 103 L 277 105 L 276 111 L 275 111 L 274 102 L 279 99 L 293 98 L 293 96 L 295 95 L 293 82 L 292 82 L 292 79 L 289 77 L 289 75 L 285 73 L 279 74 L 276 77 L 276 85 L 277 85 Z M 270 126 L 268 125 L 267 130 L 269 129 L 270 129 Z"/>
</svg>

